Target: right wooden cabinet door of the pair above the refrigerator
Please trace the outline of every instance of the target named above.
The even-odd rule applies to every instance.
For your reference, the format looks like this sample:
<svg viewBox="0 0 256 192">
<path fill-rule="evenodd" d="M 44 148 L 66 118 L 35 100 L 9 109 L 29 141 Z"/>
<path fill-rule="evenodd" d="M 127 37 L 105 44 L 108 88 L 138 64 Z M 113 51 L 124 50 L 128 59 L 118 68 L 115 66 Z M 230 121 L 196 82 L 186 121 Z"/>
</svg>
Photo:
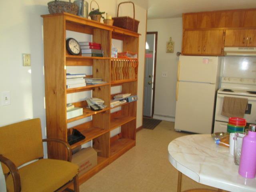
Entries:
<svg viewBox="0 0 256 192">
<path fill-rule="evenodd" d="M 221 55 L 223 42 L 223 30 L 203 31 L 202 54 Z"/>
</svg>

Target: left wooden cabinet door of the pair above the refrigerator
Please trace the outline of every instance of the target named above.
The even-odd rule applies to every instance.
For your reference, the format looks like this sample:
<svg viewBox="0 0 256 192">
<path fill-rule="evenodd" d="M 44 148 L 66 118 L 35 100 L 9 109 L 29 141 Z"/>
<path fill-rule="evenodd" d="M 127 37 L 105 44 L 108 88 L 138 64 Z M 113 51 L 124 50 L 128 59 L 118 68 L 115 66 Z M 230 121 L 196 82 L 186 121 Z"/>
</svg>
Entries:
<svg viewBox="0 0 256 192">
<path fill-rule="evenodd" d="M 185 31 L 183 36 L 182 54 L 201 54 L 202 51 L 202 31 Z"/>
</svg>

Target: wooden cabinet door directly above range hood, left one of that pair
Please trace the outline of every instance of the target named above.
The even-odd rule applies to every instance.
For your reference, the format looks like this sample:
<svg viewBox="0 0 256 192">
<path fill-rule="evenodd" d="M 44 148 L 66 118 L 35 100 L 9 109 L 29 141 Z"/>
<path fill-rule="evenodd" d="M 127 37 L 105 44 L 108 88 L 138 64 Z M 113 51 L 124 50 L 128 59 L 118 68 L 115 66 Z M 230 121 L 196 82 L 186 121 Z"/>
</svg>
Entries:
<svg viewBox="0 0 256 192">
<path fill-rule="evenodd" d="M 226 30 L 224 46 L 246 46 L 247 31 L 246 29 Z"/>
</svg>

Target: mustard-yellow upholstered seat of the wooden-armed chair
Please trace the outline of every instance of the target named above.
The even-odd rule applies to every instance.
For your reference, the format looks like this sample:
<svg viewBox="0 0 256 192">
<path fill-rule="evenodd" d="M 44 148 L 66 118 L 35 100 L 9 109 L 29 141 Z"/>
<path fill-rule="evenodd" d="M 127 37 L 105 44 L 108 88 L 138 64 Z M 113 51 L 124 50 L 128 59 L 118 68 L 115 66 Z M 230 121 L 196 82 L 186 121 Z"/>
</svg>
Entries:
<svg viewBox="0 0 256 192">
<path fill-rule="evenodd" d="M 22 192 L 52 192 L 76 175 L 78 166 L 68 161 L 40 159 L 19 169 Z M 61 177 L 59 177 L 61 175 Z M 12 175 L 6 178 L 8 192 L 14 192 Z"/>
</svg>

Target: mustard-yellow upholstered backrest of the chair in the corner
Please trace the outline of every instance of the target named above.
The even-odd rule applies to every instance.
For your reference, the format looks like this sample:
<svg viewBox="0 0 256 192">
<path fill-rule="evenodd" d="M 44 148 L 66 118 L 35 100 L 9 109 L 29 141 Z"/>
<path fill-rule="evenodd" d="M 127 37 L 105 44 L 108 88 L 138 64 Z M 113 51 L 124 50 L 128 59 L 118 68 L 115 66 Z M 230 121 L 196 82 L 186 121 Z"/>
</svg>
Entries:
<svg viewBox="0 0 256 192">
<path fill-rule="evenodd" d="M 44 156 L 39 118 L 0 127 L 0 154 L 18 167 Z M 4 174 L 9 172 L 2 164 Z"/>
</svg>

